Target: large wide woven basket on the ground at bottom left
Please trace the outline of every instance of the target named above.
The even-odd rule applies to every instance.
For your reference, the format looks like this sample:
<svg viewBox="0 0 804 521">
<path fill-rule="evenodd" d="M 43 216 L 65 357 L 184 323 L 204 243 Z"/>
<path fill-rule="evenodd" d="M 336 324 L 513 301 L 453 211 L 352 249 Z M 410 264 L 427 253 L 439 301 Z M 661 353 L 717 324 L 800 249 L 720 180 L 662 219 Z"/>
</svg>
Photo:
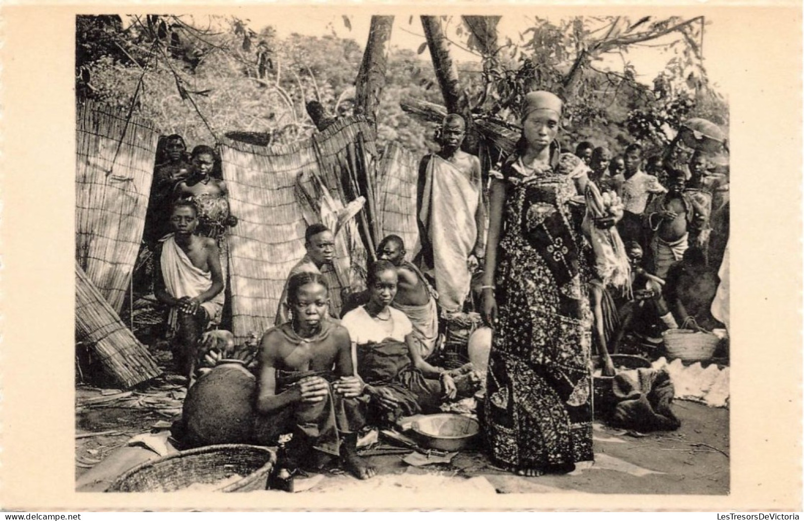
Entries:
<svg viewBox="0 0 804 521">
<path fill-rule="evenodd" d="M 244 476 L 214 492 L 265 490 L 277 454 L 256 445 L 211 445 L 143 463 L 122 474 L 109 492 L 174 492 L 196 483 L 217 483 Z"/>
</svg>

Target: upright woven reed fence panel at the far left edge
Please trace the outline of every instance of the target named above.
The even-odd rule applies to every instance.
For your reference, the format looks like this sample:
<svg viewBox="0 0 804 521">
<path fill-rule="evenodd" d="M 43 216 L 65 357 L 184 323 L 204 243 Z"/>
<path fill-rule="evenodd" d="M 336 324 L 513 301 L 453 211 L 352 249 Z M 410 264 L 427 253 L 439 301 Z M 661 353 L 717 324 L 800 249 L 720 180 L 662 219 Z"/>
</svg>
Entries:
<svg viewBox="0 0 804 521">
<path fill-rule="evenodd" d="M 76 261 L 120 312 L 142 242 L 158 132 L 100 105 L 76 122 Z"/>
</svg>

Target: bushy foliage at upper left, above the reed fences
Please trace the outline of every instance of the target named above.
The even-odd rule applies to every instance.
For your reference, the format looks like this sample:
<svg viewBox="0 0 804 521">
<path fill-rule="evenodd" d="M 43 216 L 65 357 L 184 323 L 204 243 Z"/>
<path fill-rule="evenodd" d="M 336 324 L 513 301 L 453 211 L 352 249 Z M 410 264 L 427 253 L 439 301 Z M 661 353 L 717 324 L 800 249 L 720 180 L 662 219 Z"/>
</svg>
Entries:
<svg viewBox="0 0 804 521">
<path fill-rule="evenodd" d="M 121 109 L 133 102 L 135 113 L 191 144 L 215 142 L 232 131 L 294 142 L 314 132 L 306 101 L 317 100 L 337 114 L 338 104 L 354 97 L 363 49 L 351 39 L 293 34 L 280 40 L 272 27 L 252 31 L 238 18 L 149 16 L 126 22 L 124 30 L 119 18 L 77 18 L 79 99 Z M 400 109 L 399 100 L 439 101 L 434 85 L 430 64 L 413 51 L 392 49 L 380 145 L 397 141 L 418 153 L 428 150 L 425 127 Z"/>
</svg>

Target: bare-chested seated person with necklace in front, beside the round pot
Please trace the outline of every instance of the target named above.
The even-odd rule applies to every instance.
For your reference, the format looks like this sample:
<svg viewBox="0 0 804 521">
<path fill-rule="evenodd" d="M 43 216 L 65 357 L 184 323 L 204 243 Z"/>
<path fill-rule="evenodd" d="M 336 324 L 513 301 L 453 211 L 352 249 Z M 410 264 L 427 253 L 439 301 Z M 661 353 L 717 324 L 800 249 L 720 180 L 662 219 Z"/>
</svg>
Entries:
<svg viewBox="0 0 804 521">
<path fill-rule="evenodd" d="M 269 443 L 292 431 L 280 467 L 288 474 L 309 465 L 311 449 L 338 456 L 356 478 L 376 474 L 357 455 L 364 423 L 365 384 L 355 375 L 351 339 L 340 324 L 326 319 L 329 297 L 320 273 L 290 277 L 293 319 L 262 338 L 254 436 Z"/>
</svg>

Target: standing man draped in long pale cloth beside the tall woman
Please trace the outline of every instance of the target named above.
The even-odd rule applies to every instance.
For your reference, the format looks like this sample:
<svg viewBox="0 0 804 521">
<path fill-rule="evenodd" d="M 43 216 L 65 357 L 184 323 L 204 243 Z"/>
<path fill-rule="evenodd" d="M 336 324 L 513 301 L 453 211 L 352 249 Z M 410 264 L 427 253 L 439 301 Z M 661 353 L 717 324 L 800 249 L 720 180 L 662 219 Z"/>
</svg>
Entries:
<svg viewBox="0 0 804 521">
<path fill-rule="evenodd" d="M 419 165 L 416 264 L 435 281 L 441 310 L 452 313 L 463 310 L 472 272 L 484 254 L 486 207 L 480 160 L 461 150 L 466 121 L 447 115 L 436 137 L 441 150 Z"/>
</svg>

